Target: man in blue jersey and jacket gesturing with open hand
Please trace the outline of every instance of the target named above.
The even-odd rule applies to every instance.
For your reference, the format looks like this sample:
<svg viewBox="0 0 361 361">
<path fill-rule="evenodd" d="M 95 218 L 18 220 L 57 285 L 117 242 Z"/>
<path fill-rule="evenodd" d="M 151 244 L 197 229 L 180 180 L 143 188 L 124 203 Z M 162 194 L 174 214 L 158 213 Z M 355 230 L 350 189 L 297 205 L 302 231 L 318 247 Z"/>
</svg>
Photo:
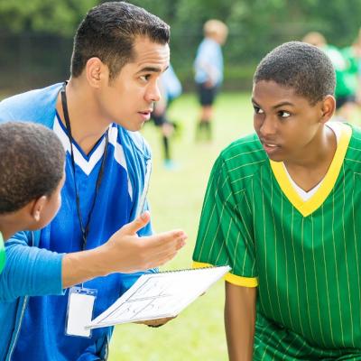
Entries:
<svg viewBox="0 0 361 361">
<path fill-rule="evenodd" d="M 112 328 L 69 335 L 68 288 L 97 293 L 96 317 L 140 275 L 124 273 L 164 264 L 184 245 L 179 230 L 151 236 L 143 213 L 151 153 L 136 132 L 160 98 L 169 38 L 169 26 L 142 8 L 98 5 L 79 25 L 69 81 L 0 103 L 0 120 L 48 126 L 66 150 L 58 215 L 41 233 L 6 243 L 0 359 L 106 359 Z"/>
</svg>

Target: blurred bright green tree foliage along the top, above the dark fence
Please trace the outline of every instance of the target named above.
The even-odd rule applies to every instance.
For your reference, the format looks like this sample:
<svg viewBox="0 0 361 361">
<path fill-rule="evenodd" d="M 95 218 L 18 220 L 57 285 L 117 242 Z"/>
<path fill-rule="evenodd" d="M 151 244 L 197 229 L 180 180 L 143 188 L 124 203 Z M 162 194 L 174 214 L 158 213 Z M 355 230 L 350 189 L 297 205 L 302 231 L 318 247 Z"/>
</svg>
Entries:
<svg viewBox="0 0 361 361">
<path fill-rule="evenodd" d="M 242 88 L 255 65 L 282 42 L 323 32 L 343 47 L 361 25 L 359 0 L 133 0 L 171 24 L 171 61 L 183 82 L 191 84 L 192 61 L 209 18 L 227 23 L 224 49 L 226 85 Z M 97 0 L 0 0 L 0 32 L 36 32 L 71 39 L 80 19 Z M 245 67 L 245 69 L 244 69 Z M 245 75 L 246 73 L 246 75 Z M 231 80 L 231 81 L 229 81 Z"/>
</svg>

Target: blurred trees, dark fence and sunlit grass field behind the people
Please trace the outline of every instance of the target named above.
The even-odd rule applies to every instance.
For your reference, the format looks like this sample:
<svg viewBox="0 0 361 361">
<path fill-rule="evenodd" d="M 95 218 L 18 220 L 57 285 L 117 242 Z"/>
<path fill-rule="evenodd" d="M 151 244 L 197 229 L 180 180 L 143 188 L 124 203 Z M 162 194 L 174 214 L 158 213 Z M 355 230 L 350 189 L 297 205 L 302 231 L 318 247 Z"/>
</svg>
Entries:
<svg viewBox="0 0 361 361">
<path fill-rule="evenodd" d="M 96 0 L 0 0 L 0 98 L 69 78 L 72 37 Z M 361 26 L 359 0 L 134 0 L 171 24 L 171 63 L 183 93 L 169 117 L 177 124 L 171 139 L 171 170 L 163 166 L 162 135 L 150 123 L 143 135 L 153 148 L 149 199 L 157 231 L 175 227 L 189 234 L 188 245 L 165 269 L 188 268 L 209 171 L 218 153 L 253 131 L 249 97 L 255 66 L 276 45 L 321 32 L 345 48 Z M 195 142 L 199 104 L 193 61 L 203 23 L 227 23 L 223 47 L 225 79 L 215 105 L 213 139 Z M 359 75 L 358 75 L 359 77 Z M 359 124 L 359 111 L 353 122 Z M 227 360 L 223 326 L 224 284 L 218 282 L 177 319 L 160 329 L 121 325 L 115 329 L 110 360 Z"/>
</svg>

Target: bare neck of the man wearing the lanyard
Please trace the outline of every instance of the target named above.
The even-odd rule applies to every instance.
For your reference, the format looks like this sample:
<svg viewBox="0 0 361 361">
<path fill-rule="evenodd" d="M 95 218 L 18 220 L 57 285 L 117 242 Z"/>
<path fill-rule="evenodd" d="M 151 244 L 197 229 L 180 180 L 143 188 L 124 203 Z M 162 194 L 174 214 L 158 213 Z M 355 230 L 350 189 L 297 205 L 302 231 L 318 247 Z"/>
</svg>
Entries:
<svg viewBox="0 0 361 361">
<path fill-rule="evenodd" d="M 86 79 L 81 76 L 79 79 L 71 78 L 66 95 L 71 134 L 83 152 L 88 154 L 98 139 L 106 133 L 111 122 L 101 116 L 94 89 L 88 86 Z M 65 125 L 60 94 L 56 108 L 61 122 Z"/>
</svg>

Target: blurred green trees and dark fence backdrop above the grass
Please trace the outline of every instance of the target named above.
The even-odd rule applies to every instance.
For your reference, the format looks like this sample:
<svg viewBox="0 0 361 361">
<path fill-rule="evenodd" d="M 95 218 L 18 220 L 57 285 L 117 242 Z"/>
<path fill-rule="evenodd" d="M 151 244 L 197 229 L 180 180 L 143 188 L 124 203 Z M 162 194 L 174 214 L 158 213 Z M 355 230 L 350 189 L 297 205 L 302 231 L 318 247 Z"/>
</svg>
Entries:
<svg viewBox="0 0 361 361">
<path fill-rule="evenodd" d="M 97 0 L 0 0 L 0 89 L 21 90 L 69 75 L 72 37 Z M 227 23 L 225 89 L 249 89 L 258 60 L 281 42 L 322 32 L 338 47 L 357 36 L 359 0 L 134 0 L 171 24 L 171 60 L 185 90 L 210 18 Z"/>
</svg>

